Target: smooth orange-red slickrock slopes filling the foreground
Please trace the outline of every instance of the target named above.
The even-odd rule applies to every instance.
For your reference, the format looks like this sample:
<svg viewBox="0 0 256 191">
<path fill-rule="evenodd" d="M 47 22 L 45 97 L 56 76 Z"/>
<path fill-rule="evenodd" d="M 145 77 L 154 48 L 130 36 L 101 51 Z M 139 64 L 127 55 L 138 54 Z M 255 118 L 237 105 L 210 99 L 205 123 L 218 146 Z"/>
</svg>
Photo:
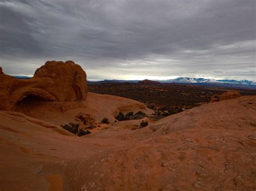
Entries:
<svg viewBox="0 0 256 191">
<path fill-rule="evenodd" d="M 111 123 L 83 137 L 59 125 L 79 112 L 113 122 L 119 110 L 152 111 L 109 95 L 76 104 L 0 111 L 0 190 L 256 188 L 255 96 L 201 105 L 143 129 L 131 130 L 142 119 Z"/>
</svg>

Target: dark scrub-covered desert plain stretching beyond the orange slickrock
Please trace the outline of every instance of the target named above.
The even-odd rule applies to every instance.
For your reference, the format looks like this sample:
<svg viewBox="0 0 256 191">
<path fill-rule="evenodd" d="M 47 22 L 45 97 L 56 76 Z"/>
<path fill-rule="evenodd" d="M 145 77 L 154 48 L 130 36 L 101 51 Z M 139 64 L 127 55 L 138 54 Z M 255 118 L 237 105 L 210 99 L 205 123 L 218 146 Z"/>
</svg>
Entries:
<svg viewBox="0 0 256 191">
<path fill-rule="evenodd" d="M 208 103 L 211 97 L 217 98 L 226 91 L 225 88 L 196 87 L 183 84 L 162 84 L 156 88 L 139 83 L 97 83 L 89 84 L 89 87 L 90 91 L 94 93 L 117 95 L 144 103 L 147 108 L 154 110 L 156 115 L 151 118 L 153 120 L 159 120 L 184 109 Z M 254 95 L 255 93 L 245 90 L 243 94 Z M 166 113 L 163 114 L 163 112 Z M 127 116 L 124 114 L 118 118 L 118 121 L 143 118 L 142 114 L 140 112 L 134 112 L 133 115 L 128 114 Z"/>
</svg>

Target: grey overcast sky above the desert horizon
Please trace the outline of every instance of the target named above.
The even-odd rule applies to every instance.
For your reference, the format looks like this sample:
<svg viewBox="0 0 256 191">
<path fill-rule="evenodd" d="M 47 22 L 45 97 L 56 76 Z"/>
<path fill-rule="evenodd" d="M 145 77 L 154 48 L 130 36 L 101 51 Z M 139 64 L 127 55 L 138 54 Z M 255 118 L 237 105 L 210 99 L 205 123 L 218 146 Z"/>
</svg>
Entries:
<svg viewBox="0 0 256 191">
<path fill-rule="evenodd" d="M 0 66 L 73 60 L 87 79 L 255 77 L 255 0 L 0 1 Z"/>
</svg>

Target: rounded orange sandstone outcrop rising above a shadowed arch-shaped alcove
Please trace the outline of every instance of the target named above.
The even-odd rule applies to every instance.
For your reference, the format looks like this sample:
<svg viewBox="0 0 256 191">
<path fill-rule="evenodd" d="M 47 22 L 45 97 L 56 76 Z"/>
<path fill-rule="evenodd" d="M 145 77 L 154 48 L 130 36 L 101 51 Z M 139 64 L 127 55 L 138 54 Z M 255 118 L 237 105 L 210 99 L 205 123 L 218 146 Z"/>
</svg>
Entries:
<svg viewBox="0 0 256 191">
<path fill-rule="evenodd" d="M 47 61 L 31 79 L 15 79 L 0 69 L 0 110 L 14 110 L 26 96 L 48 101 L 84 101 L 87 91 L 86 73 L 73 61 Z"/>
</svg>

